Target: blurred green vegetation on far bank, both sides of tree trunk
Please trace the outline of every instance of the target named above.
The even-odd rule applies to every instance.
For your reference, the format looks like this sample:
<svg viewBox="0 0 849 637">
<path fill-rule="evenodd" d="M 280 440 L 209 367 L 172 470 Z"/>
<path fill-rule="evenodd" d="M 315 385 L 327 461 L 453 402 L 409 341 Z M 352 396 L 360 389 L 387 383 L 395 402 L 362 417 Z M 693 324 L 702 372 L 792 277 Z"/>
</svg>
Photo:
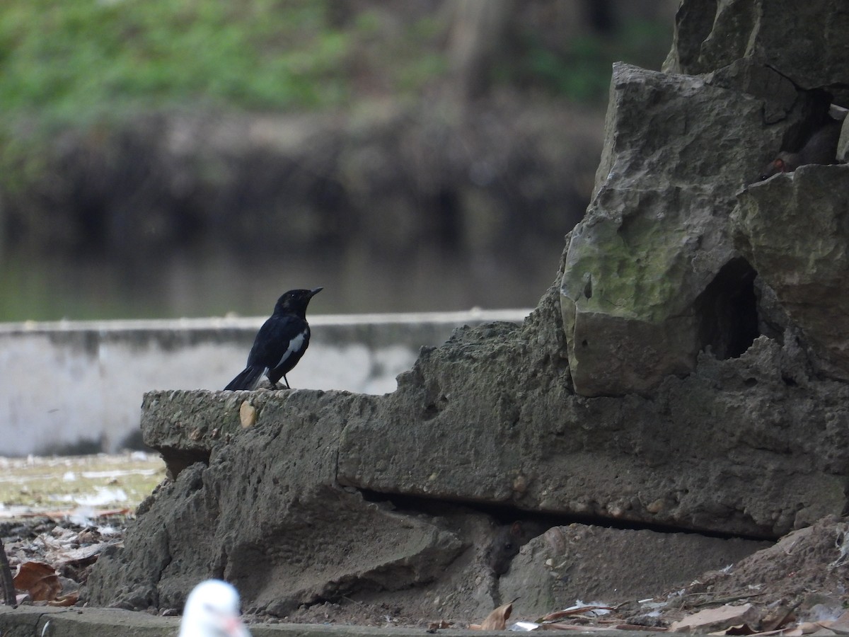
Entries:
<svg viewBox="0 0 849 637">
<path fill-rule="evenodd" d="M 450 11 L 339 0 L 5 0 L 0 109 L 53 121 L 161 107 L 317 110 L 370 93 L 412 96 L 444 77 Z M 409 7 L 408 7 L 409 8 Z M 444 9 L 444 8 L 443 8 Z M 655 67 L 668 26 L 543 45 L 519 21 L 497 83 L 604 99 L 610 62 Z M 527 31 L 527 32 L 521 32 Z M 548 37 L 548 41 L 557 38 Z"/>
</svg>

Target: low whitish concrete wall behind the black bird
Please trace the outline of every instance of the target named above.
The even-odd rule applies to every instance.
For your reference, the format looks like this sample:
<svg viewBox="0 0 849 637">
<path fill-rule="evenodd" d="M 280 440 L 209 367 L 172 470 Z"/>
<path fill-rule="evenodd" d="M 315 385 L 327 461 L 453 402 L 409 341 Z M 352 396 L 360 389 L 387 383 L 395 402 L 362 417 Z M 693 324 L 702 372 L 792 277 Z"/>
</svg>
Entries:
<svg viewBox="0 0 849 637">
<path fill-rule="evenodd" d="M 520 323 L 530 310 L 312 316 L 293 388 L 381 394 L 423 345 L 463 324 Z M 153 389 L 222 389 L 245 365 L 260 318 L 0 324 L 0 455 L 85 441 L 115 452 Z"/>
</svg>

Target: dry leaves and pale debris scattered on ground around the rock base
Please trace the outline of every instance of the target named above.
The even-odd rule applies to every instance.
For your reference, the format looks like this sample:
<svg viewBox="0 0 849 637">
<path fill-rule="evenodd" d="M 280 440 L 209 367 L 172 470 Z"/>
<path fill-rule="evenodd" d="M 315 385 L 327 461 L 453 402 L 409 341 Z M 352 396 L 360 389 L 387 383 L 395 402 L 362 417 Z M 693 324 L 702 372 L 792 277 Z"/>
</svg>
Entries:
<svg viewBox="0 0 849 637">
<path fill-rule="evenodd" d="M 143 466 L 135 467 L 134 471 L 142 471 L 143 478 L 153 484 L 161 479 L 159 459 L 137 459 Z M 0 462 L 8 464 L 9 460 L 0 459 Z M 121 545 L 127 523 L 133 518 L 132 511 L 149 491 L 139 492 L 135 499 L 106 503 L 113 505 L 111 508 L 80 505 L 79 499 L 69 499 L 60 493 L 60 487 L 76 488 L 79 498 L 84 499 L 87 493 L 98 493 L 98 486 L 126 489 L 132 471 L 116 466 L 93 468 L 85 464 L 90 459 L 54 459 L 52 467 L 46 462 L 30 460 L 29 468 L 25 459 L 15 462 L 24 463 L 18 468 L 25 470 L 27 478 L 20 475 L 14 478 L 11 477 L 14 471 L 7 472 L 0 478 L 5 493 L 14 493 L 14 488 L 9 487 L 14 483 L 25 495 L 22 485 L 41 480 L 57 493 L 56 498 L 47 499 L 48 504 L 69 505 L 62 510 L 56 507 L 47 510 L 43 506 L 39 510 L 36 503 L 27 503 L 21 496 L 17 501 L 12 499 L 11 505 L 20 507 L 14 515 L 8 501 L 0 505 L 0 539 L 15 577 L 16 602 L 74 606 L 80 603 L 77 600 L 80 589 L 98 555 L 110 546 Z M 79 489 L 76 480 L 62 479 L 71 472 L 75 476 L 87 476 L 87 480 L 97 476 L 105 483 L 87 483 L 85 489 Z M 42 505 L 45 501 L 42 498 Z M 607 565 L 611 577 L 616 574 L 613 548 Z M 432 617 L 425 611 L 420 617 L 411 617 L 409 611 L 402 612 L 400 607 L 343 598 L 301 606 L 289 617 L 249 615 L 246 620 L 418 627 L 430 633 L 447 628 L 471 628 L 476 624 L 484 630 L 503 626 L 514 630 L 627 629 L 785 637 L 846 635 L 849 634 L 847 582 L 849 518 L 829 516 L 736 564 L 706 572 L 681 589 L 656 595 L 648 591 L 639 600 L 571 600 L 572 606 L 553 608 L 544 617 L 521 617 L 517 612 L 520 602 L 514 604 L 516 600 L 499 606 L 490 617 Z M 425 607 L 423 604 L 422 608 Z M 159 612 L 173 614 L 176 609 L 159 609 Z"/>
</svg>

